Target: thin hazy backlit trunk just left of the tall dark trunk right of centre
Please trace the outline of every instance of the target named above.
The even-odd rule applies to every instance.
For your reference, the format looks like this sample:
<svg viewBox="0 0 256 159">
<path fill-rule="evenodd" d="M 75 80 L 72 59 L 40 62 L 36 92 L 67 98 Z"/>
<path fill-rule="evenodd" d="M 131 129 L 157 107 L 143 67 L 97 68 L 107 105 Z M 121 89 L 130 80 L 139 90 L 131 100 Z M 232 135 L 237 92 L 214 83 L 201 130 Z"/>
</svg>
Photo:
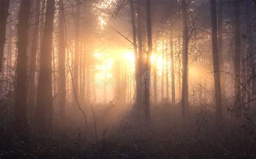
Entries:
<svg viewBox="0 0 256 159">
<path fill-rule="evenodd" d="M 172 71 L 172 105 L 175 105 L 175 77 L 174 77 L 175 74 L 174 74 L 172 32 L 170 33 L 170 55 L 171 55 L 171 71 Z"/>
</svg>

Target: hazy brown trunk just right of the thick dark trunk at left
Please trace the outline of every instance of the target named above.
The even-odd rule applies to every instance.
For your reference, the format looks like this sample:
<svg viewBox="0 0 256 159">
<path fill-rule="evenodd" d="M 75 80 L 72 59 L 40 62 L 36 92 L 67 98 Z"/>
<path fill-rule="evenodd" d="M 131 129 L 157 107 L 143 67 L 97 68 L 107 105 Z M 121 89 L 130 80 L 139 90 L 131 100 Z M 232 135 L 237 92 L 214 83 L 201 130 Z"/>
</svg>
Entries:
<svg viewBox="0 0 256 159">
<path fill-rule="evenodd" d="M 65 124 L 65 107 L 66 107 L 66 77 L 65 77 L 65 37 L 64 37 L 64 4 L 63 0 L 59 1 L 59 37 L 58 37 L 58 90 L 59 90 L 59 110 L 60 121 Z"/>
</svg>

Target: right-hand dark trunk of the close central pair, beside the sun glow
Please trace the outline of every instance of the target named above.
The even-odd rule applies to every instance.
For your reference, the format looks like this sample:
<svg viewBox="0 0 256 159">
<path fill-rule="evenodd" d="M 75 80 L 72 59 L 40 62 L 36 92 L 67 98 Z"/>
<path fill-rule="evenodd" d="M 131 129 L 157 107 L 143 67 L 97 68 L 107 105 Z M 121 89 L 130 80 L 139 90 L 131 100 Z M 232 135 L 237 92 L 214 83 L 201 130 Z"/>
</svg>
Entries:
<svg viewBox="0 0 256 159">
<path fill-rule="evenodd" d="M 152 26 L 151 26 L 151 0 L 146 2 L 146 13 L 147 13 L 147 59 L 146 59 L 146 70 L 145 70 L 145 85 L 144 85 L 144 109 L 147 124 L 151 124 L 150 115 L 150 71 L 151 71 L 151 55 L 152 55 Z"/>
</svg>

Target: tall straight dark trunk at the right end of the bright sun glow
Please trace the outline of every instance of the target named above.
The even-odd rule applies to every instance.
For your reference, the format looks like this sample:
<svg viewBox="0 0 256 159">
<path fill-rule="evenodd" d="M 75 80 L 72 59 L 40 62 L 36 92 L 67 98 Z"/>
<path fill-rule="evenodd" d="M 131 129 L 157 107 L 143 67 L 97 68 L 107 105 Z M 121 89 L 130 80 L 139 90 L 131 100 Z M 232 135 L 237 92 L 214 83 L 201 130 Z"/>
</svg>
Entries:
<svg viewBox="0 0 256 159">
<path fill-rule="evenodd" d="M 187 30 L 187 4 L 186 0 L 181 0 L 182 19 L 183 19 L 183 72 L 182 72 L 182 90 L 181 90 L 181 114 L 183 129 L 186 125 L 188 115 L 188 30 Z"/>
</svg>

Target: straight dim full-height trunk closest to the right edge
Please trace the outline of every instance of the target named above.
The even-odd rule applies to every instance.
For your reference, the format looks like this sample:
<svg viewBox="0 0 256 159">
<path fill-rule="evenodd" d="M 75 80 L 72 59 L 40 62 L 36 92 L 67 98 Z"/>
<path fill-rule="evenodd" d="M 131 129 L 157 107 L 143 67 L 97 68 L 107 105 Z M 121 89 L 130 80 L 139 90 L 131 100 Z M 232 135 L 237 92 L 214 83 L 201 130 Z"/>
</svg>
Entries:
<svg viewBox="0 0 256 159">
<path fill-rule="evenodd" d="M 235 27 L 235 57 L 234 57 L 234 74 L 235 74 L 235 112 L 238 118 L 241 118 L 241 31 L 240 31 L 240 3 L 235 2 L 234 11 L 234 27 Z"/>
</svg>

